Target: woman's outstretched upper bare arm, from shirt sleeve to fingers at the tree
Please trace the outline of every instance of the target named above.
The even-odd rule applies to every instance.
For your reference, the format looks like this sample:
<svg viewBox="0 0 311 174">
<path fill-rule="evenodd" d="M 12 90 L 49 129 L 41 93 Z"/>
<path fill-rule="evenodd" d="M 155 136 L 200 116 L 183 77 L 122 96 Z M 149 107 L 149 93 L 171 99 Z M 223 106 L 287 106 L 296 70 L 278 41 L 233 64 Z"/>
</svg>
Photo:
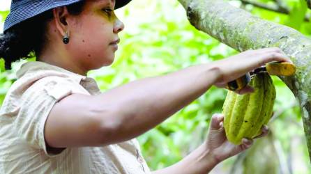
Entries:
<svg viewBox="0 0 311 174">
<path fill-rule="evenodd" d="M 54 148 L 97 146 L 132 139 L 206 92 L 269 61 L 289 61 L 280 49 L 244 52 L 160 77 L 133 81 L 101 95 L 73 94 L 52 109 L 45 139 Z"/>
</svg>

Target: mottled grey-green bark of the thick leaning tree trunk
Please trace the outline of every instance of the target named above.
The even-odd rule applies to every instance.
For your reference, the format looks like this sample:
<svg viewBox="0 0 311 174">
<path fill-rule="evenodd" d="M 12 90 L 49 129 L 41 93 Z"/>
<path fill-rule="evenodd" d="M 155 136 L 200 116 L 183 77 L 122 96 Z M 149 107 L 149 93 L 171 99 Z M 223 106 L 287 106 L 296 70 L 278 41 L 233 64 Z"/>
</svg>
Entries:
<svg viewBox="0 0 311 174">
<path fill-rule="evenodd" d="M 303 127 L 311 155 L 311 40 L 290 27 L 268 22 L 222 0 L 179 0 L 190 23 L 240 52 L 263 47 L 280 47 L 297 71 L 280 77 L 299 101 Z M 284 101 L 286 102 L 286 101 Z M 311 160 L 311 156 L 310 156 Z"/>
</svg>

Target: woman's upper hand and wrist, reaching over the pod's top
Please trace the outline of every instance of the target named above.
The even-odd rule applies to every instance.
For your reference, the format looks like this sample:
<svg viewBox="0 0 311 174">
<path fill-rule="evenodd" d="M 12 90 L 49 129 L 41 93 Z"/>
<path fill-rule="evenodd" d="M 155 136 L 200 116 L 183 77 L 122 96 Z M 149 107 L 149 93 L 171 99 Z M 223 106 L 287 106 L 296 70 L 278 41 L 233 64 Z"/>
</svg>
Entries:
<svg viewBox="0 0 311 174">
<path fill-rule="evenodd" d="M 215 63 L 214 65 L 220 70 L 220 78 L 216 81 L 215 86 L 224 88 L 229 81 L 238 79 L 238 77 L 241 77 L 271 61 L 292 63 L 289 57 L 277 47 L 249 50 L 220 61 L 215 61 L 213 62 Z M 238 93 L 248 92 L 252 92 L 250 86 L 238 91 Z"/>
</svg>

